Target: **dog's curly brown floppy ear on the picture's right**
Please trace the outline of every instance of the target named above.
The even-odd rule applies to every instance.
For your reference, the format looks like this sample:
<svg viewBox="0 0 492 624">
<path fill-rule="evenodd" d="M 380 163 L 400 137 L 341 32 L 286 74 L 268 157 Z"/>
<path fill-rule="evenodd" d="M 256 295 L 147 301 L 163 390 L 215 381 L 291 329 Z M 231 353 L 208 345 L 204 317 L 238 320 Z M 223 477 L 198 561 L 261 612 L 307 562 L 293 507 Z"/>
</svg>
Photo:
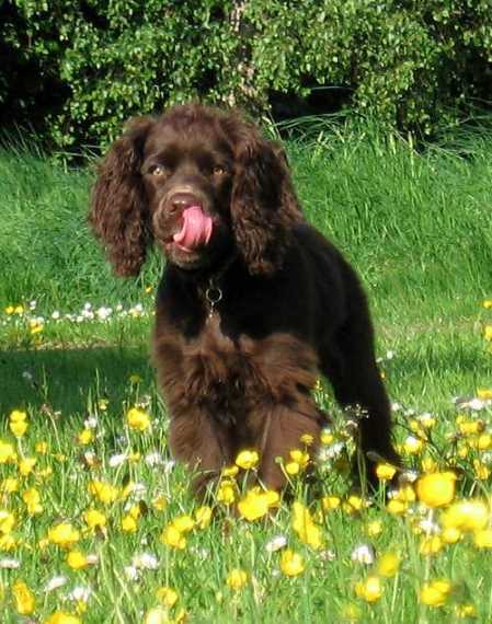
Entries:
<svg viewBox="0 0 492 624">
<path fill-rule="evenodd" d="M 236 154 L 231 221 L 238 251 L 253 275 L 281 266 L 291 227 L 304 221 L 283 149 L 243 125 Z"/>
</svg>

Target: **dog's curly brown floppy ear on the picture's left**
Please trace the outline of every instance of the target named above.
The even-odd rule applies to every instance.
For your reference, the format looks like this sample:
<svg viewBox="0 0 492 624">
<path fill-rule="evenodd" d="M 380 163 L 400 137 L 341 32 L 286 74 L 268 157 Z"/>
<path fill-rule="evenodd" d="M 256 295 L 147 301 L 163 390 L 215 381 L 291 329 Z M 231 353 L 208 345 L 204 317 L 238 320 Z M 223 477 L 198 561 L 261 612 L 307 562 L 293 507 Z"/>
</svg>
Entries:
<svg viewBox="0 0 492 624">
<path fill-rule="evenodd" d="M 140 165 L 153 123 L 151 117 L 130 122 L 100 164 L 92 190 L 89 221 L 115 273 L 124 277 L 138 275 L 151 238 Z"/>
</svg>

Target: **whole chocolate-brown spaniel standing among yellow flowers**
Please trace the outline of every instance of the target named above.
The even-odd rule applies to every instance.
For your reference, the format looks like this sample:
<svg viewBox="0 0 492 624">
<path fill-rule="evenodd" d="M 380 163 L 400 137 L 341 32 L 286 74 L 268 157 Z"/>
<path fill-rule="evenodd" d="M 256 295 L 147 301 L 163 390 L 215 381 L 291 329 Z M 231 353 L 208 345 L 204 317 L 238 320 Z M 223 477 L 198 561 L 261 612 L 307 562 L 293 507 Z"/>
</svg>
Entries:
<svg viewBox="0 0 492 624">
<path fill-rule="evenodd" d="M 238 451 L 285 483 L 277 457 L 314 448 L 328 420 L 319 373 L 358 406 L 361 448 L 398 462 L 361 284 L 302 216 L 282 149 L 240 116 L 201 105 L 134 119 L 99 170 L 90 221 L 114 269 L 165 256 L 153 336 L 173 455 L 201 490 Z"/>
</svg>

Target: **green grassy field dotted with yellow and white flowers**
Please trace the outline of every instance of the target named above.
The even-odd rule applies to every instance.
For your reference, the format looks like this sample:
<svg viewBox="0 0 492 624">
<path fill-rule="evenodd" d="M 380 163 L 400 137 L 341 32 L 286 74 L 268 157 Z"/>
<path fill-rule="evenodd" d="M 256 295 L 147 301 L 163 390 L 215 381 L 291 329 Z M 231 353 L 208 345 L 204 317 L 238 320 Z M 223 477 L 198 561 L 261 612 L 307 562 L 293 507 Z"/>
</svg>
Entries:
<svg viewBox="0 0 492 624">
<path fill-rule="evenodd" d="M 299 195 L 366 285 L 409 483 L 434 477 L 389 499 L 381 481 L 361 497 L 337 415 L 321 494 L 300 474 L 296 505 L 247 495 L 254 458 L 242 458 L 247 467 L 199 507 L 169 457 L 149 363 L 160 258 L 137 280 L 115 279 L 85 224 L 91 167 L 10 147 L 0 151 L 2 622 L 492 621 L 492 130 L 419 152 L 370 125 L 299 129 L 286 146 Z M 337 414 L 328 388 L 317 396 Z"/>
</svg>

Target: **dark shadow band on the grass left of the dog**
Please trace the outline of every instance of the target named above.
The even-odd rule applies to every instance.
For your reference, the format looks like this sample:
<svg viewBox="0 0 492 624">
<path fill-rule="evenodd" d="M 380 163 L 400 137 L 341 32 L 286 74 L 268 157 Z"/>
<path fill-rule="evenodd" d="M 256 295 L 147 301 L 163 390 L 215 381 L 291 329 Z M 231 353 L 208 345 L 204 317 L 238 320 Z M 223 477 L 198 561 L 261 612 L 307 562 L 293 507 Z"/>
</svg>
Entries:
<svg viewBox="0 0 492 624">
<path fill-rule="evenodd" d="M 145 347 L 0 351 L 0 416 L 11 409 L 37 412 L 44 404 L 62 415 L 87 414 L 91 400 L 107 397 L 115 409 L 139 391 L 153 392 L 155 374 Z"/>
</svg>

